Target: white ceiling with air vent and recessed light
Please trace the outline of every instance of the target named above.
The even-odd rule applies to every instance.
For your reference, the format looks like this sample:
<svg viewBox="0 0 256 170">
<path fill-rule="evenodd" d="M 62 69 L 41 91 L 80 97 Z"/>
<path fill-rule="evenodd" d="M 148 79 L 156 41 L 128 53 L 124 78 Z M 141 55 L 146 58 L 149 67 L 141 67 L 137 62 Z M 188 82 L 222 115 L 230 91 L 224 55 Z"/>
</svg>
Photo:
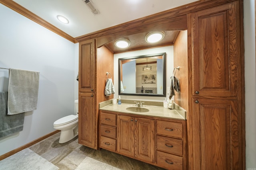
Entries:
<svg viewBox="0 0 256 170">
<path fill-rule="evenodd" d="M 83 0 L 14 0 L 72 37 L 156 14 L 197 0 L 90 0 L 94 15 Z M 61 23 L 56 16 L 69 20 Z"/>
</svg>

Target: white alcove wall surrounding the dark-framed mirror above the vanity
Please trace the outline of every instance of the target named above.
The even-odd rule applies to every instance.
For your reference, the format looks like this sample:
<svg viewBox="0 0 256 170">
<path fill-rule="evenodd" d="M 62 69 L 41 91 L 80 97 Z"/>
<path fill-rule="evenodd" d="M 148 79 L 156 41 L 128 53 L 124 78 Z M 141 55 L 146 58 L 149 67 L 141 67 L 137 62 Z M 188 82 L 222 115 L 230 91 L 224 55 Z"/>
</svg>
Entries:
<svg viewBox="0 0 256 170">
<path fill-rule="evenodd" d="M 133 56 L 140 56 L 140 55 L 148 55 L 148 54 L 155 54 L 155 53 L 166 53 L 166 96 L 169 97 L 167 94 L 167 88 L 170 87 L 170 77 L 172 76 L 173 71 L 173 46 L 166 46 L 166 47 L 159 47 L 154 49 L 146 49 L 140 51 L 132 51 L 127 53 L 119 53 L 114 54 L 114 82 L 118 82 L 118 59 L 125 58 L 125 57 L 133 57 Z M 114 84 L 116 93 L 114 94 L 114 98 L 118 98 L 118 83 Z M 122 99 L 134 99 L 134 100 L 154 100 L 154 101 L 163 101 L 165 97 L 151 97 L 148 98 L 147 96 L 126 96 L 121 95 Z"/>
</svg>

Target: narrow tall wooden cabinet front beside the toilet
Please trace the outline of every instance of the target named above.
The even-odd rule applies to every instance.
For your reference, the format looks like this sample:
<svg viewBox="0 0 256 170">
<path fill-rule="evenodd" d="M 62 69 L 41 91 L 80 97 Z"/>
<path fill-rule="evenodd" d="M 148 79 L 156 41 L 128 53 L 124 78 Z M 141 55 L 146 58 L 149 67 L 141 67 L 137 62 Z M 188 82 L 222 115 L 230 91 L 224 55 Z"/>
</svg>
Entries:
<svg viewBox="0 0 256 170">
<path fill-rule="evenodd" d="M 95 40 L 81 42 L 79 55 L 78 143 L 95 148 Z"/>
</svg>

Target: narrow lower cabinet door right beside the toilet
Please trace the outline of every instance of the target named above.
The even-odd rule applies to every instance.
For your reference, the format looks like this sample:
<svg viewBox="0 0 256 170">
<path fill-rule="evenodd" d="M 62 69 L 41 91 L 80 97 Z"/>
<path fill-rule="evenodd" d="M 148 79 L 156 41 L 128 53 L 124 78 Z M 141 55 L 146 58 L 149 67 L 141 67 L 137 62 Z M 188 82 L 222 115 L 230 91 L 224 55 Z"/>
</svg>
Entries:
<svg viewBox="0 0 256 170">
<path fill-rule="evenodd" d="M 78 142 L 95 147 L 95 96 L 93 93 L 79 93 Z"/>
</svg>

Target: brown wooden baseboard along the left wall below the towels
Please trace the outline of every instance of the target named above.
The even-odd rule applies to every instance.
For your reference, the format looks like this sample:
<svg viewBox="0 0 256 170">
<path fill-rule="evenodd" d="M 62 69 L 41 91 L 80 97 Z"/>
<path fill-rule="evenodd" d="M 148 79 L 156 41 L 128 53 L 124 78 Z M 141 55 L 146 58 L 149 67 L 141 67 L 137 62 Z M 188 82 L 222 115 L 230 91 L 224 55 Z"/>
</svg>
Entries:
<svg viewBox="0 0 256 170">
<path fill-rule="evenodd" d="M 38 142 L 40 142 L 40 141 L 42 141 L 42 140 L 44 140 L 46 138 L 48 138 L 48 137 L 58 133 L 58 132 L 60 132 L 60 131 L 59 130 L 53 131 L 51 133 L 48 133 L 47 135 L 44 135 L 44 136 L 42 136 L 42 137 L 40 137 L 40 138 L 30 142 L 30 143 L 27 143 L 26 145 L 23 145 L 23 146 L 21 146 L 19 148 L 11 150 L 10 152 L 7 152 L 6 154 L 1 155 L 0 156 L 0 160 L 3 160 L 4 158 L 7 158 L 7 157 L 9 157 L 9 156 L 11 156 L 11 155 L 13 155 L 13 154 L 15 154 L 17 152 L 20 152 L 20 150 L 23 150 L 23 149 L 26 149 L 28 147 L 31 147 L 32 145 L 34 145 L 34 144 L 36 144 L 36 143 L 38 143 Z"/>
</svg>

